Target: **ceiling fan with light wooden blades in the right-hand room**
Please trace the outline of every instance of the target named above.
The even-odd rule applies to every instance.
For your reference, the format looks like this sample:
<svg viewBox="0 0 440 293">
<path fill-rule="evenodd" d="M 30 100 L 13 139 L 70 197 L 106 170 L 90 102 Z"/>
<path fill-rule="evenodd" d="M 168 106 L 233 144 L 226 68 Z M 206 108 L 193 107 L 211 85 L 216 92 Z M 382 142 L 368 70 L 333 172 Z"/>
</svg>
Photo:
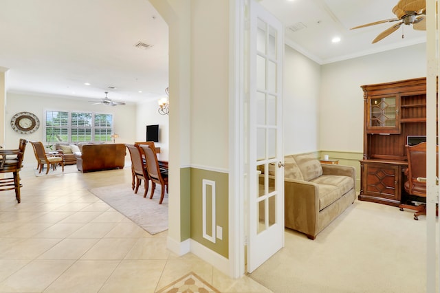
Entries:
<svg viewBox="0 0 440 293">
<path fill-rule="evenodd" d="M 354 30 L 356 28 L 364 28 L 366 26 L 377 25 L 380 23 L 391 23 L 394 21 L 400 21 L 399 23 L 393 25 L 388 30 L 384 30 L 376 39 L 373 40 L 373 44 L 378 41 L 384 39 L 386 36 L 389 36 L 393 32 L 395 32 L 400 26 L 403 24 L 410 25 L 412 24 L 412 28 L 415 30 L 426 30 L 426 0 L 399 0 L 397 5 L 393 8 L 393 13 L 397 18 L 395 19 L 385 19 L 383 21 L 375 21 L 373 23 L 367 23 L 364 25 L 356 26 L 355 28 L 351 28 Z M 402 38 L 404 36 L 402 35 Z"/>
</svg>

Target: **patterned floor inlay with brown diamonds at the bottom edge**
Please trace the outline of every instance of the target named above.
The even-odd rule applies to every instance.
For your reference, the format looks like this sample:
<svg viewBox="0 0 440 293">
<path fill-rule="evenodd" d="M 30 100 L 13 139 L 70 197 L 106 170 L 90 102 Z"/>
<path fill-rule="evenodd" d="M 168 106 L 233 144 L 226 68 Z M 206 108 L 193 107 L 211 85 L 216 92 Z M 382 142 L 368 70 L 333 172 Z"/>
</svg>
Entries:
<svg viewBox="0 0 440 293">
<path fill-rule="evenodd" d="M 197 274 L 195 274 L 194 272 L 190 272 L 189 274 L 182 276 L 173 283 L 170 283 L 170 285 L 157 291 L 157 293 L 159 292 L 220 293 L 219 290 L 209 285 L 205 280 L 201 279 L 201 277 L 197 276 Z"/>
</svg>

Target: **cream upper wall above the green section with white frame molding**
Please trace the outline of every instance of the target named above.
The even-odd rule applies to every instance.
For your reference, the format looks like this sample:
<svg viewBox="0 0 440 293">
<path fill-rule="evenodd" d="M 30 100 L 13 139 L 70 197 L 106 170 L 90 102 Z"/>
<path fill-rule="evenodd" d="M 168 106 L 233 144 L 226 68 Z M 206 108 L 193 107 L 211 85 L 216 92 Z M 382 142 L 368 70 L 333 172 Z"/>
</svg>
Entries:
<svg viewBox="0 0 440 293">
<path fill-rule="evenodd" d="M 227 170 L 228 1 L 191 1 L 191 11 L 191 165 Z M 173 105 L 170 107 L 172 111 Z"/>
</svg>

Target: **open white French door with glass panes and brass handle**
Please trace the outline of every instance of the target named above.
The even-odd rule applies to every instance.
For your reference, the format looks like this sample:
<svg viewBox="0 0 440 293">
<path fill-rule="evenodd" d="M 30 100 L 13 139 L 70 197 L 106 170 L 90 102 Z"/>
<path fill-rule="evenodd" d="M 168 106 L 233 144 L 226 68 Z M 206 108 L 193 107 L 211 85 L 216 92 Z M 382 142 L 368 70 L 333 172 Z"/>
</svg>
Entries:
<svg viewBox="0 0 440 293">
<path fill-rule="evenodd" d="M 250 1 L 248 272 L 284 246 L 283 25 Z"/>
</svg>

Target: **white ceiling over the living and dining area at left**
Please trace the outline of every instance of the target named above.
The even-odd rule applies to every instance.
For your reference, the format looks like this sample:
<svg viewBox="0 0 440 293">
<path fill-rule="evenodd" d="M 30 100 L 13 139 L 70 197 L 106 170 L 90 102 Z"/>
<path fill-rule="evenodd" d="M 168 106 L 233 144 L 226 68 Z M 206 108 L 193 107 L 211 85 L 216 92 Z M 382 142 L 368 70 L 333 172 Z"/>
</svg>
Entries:
<svg viewBox="0 0 440 293">
<path fill-rule="evenodd" d="M 109 91 L 126 102 L 166 96 L 168 26 L 146 0 L 2 0 L 0 40 L 9 91 L 86 98 Z"/>
</svg>

